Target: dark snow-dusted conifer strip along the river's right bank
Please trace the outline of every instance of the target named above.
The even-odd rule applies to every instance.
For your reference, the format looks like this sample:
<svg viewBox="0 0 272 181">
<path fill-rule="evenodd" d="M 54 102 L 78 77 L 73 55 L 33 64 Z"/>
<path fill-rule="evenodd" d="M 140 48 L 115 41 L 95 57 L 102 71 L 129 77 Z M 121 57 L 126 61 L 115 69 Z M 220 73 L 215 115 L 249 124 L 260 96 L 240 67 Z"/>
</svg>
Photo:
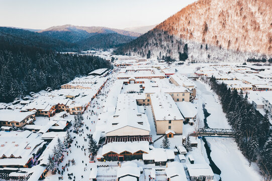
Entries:
<svg viewBox="0 0 272 181">
<path fill-rule="evenodd" d="M 267 114 L 262 116 L 247 101 L 247 94 L 231 91 L 227 85 L 210 79 L 211 88 L 219 96 L 229 124 L 237 130 L 236 143 L 251 165 L 256 161 L 265 180 L 272 174 L 272 133 Z"/>
</svg>

